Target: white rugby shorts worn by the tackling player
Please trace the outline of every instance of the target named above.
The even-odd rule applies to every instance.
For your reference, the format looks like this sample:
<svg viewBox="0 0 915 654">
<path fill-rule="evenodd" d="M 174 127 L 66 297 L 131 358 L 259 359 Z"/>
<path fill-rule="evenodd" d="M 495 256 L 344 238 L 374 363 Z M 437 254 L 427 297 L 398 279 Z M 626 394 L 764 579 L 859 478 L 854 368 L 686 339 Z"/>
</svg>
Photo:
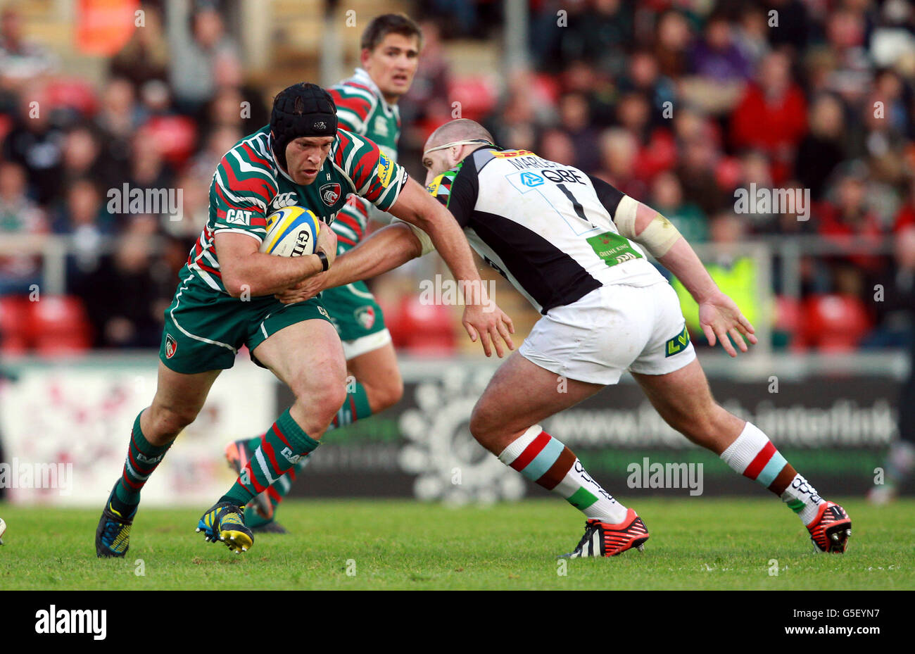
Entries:
<svg viewBox="0 0 915 654">
<path fill-rule="evenodd" d="M 615 384 L 624 370 L 662 375 L 695 359 L 671 284 L 607 284 L 538 320 L 519 353 L 567 379 Z"/>
</svg>

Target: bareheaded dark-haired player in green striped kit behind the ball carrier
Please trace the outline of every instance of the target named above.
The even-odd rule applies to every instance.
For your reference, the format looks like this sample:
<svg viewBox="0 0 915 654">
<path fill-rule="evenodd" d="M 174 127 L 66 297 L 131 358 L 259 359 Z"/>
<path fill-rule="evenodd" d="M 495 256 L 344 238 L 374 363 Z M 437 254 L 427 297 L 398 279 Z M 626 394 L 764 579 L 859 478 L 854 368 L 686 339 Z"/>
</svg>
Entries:
<svg viewBox="0 0 915 654">
<path fill-rule="evenodd" d="M 367 136 L 392 161 L 397 161 L 401 121 L 397 101 L 410 89 L 422 49 L 422 33 L 403 14 L 375 16 L 362 32 L 361 68 L 328 89 L 337 105 L 339 126 Z M 350 196 L 331 228 L 337 233 L 338 253 L 355 247 L 369 231 L 371 220 L 387 223 L 370 201 Z M 382 308 L 361 281 L 328 289 L 321 294 L 330 321 L 337 327 L 347 360 L 347 399 L 330 423 L 335 429 L 379 413 L 400 402 L 404 394 L 391 334 L 384 325 Z M 236 472 L 253 456 L 265 434 L 233 441 L 225 456 Z M 292 488 L 296 474 L 311 461 L 304 456 L 296 466 L 264 490 L 244 512 L 253 531 L 285 533 L 276 509 Z"/>
</svg>

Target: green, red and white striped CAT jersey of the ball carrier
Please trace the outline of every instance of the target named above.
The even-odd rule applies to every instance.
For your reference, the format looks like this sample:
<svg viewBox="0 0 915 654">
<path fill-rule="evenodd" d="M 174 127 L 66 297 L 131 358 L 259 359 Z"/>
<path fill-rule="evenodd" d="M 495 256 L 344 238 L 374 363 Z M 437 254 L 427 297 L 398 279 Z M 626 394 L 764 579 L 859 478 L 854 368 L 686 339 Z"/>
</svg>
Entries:
<svg viewBox="0 0 915 654">
<path fill-rule="evenodd" d="M 210 184 L 210 216 L 188 256 L 188 274 L 226 293 L 214 245 L 219 231 L 246 234 L 258 242 L 266 235 L 267 216 L 299 205 L 332 224 L 350 196 L 365 198 L 386 211 L 397 200 L 407 174 L 371 140 L 339 129 L 318 177 L 296 184 L 276 164 L 269 125 L 244 137 L 223 155 Z"/>
</svg>

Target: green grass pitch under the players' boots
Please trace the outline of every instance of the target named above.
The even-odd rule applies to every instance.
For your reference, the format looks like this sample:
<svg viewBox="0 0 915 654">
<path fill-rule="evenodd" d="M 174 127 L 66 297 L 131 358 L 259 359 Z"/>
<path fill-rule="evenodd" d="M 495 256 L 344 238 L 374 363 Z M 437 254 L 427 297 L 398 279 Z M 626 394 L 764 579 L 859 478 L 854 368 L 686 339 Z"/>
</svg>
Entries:
<svg viewBox="0 0 915 654">
<path fill-rule="evenodd" d="M 290 533 L 257 535 L 242 555 L 194 532 L 206 507 L 141 508 L 126 558 L 108 560 L 93 545 L 101 509 L 0 504 L 0 588 L 915 588 L 915 500 L 838 501 L 853 521 L 842 556 L 813 554 L 800 520 L 774 499 L 639 499 L 645 552 L 561 562 L 585 520 L 553 499 L 460 509 L 290 500 L 277 514 Z"/>
</svg>

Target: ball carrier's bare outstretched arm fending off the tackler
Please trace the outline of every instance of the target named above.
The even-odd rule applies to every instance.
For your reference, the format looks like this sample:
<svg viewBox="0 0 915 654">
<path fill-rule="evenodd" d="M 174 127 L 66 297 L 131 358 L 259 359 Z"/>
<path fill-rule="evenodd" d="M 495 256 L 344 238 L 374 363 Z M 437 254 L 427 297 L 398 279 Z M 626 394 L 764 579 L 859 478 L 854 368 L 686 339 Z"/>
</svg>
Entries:
<svg viewBox="0 0 915 654">
<path fill-rule="evenodd" d="M 514 349 L 510 336 L 514 333 L 511 318 L 486 293 L 464 231 L 451 212 L 426 193 L 425 188 L 408 179 L 389 213 L 425 231 L 458 284 L 462 284 L 463 323 L 470 340 L 476 342 L 479 338 L 487 357 L 492 354 L 492 345 L 499 357 L 504 356 L 501 341 Z"/>
</svg>

